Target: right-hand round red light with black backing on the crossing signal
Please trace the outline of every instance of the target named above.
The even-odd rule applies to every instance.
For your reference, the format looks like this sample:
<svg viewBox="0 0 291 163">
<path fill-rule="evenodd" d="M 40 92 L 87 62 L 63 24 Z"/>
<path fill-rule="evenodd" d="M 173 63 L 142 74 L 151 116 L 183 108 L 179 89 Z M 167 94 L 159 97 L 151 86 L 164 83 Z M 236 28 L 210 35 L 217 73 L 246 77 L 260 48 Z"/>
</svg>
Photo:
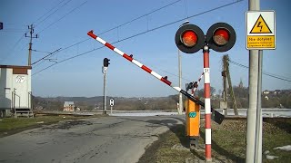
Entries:
<svg viewBox="0 0 291 163">
<path fill-rule="evenodd" d="M 236 32 L 226 23 L 213 24 L 207 31 L 206 42 L 216 52 L 226 52 L 236 43 Z"/>
</svg>

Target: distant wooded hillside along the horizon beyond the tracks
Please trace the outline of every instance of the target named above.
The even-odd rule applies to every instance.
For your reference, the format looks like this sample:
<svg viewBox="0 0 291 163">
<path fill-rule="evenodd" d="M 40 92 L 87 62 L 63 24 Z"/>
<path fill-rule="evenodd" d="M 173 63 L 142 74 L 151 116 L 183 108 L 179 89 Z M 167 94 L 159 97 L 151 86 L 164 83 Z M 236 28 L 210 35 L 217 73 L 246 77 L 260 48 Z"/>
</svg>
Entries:
<svg viewBox="0 0 291 163">
<path fill-rule="evenodd" d="M 237 108 L 248 108 L 248 89 L 246 87 L 234 87 L 236 95 Z M 204 90 L 198 90 L 199 97 L 204 96 Z M 291 90 L 263 91 L 263 108 L 291 108 Z M 125 97 L 107 97 L 107 107 L 109 100 L 115 99 L 114 110 L 176 110 L 178 95 L 153 98 L 125 98 Z M 186 98 L 183 97 L 185 101 Z M 204 101 L 203 98 L 200 99 Z M 75 106 L 81 110 L 103 110 L 103 96 L 95 97 L 35 97 L 34 108 L 37 110 L 63 110 L 65 101 L 74 101 Z M 219 107 L 221 96 L 212 96 L 211 106 Z M 228 97 L 228 106 L 232 107 L 231 97 Z"/>
</svg>

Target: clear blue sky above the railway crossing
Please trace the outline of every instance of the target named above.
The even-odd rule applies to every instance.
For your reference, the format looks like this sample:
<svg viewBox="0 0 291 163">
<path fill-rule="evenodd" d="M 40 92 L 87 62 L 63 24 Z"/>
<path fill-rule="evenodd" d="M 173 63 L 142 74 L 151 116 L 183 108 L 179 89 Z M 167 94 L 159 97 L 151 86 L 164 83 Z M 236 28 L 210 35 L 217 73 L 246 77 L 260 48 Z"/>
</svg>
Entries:
<svg viewBox="0 0 291 163">
<path fill-rule="evenodd" d="M 229 5 L 231 4 L 231 5 Z M 276 12 L 276 50 L 263 51 L 263 90 L 291 89 L 290 23 L 288 0 L 261 0 L 261 10 Z M 28 25 L 34 25 L 32 91 L 36 96 L 102 96 L 103 59 L 110 59 L 107 95 L 114 97 L 161 97 L 177 92 L 164 82 L 127 62 L 87 35 L 94 30 L 124 53 L 133 54 L 153 71 L 167 76 L 178 86 L 177 29 L 186 20 L 206 34 L 212 24 L 224 22 L 236 31 L 236 44 L 225 52 L 210 50 L 210 84 L 222 90 L 222 57 L 248 66 L 246 50 L 246 11 L 248 1 L 95 1 L 95 0 L 2 0 L 0 1 L 0 64 L 27 65 Z M 103 47 L 103 48 L 102 48 Z M 59 50 L 59 51 L 57 51 Z M 57 52 L 55 52 L 57 51 Z M 45 55 L 53 53 L 45 60 Z M 203 53 L 181 53 L 182 89 L 197 81 L 203 72 Z M 72 58 L 72 59 L 69 59 Z M 248 69 L 230 63 L 233 85 L 248 86 Z M 289 82 L 288 82 L 289 81 Z M 203 79 L 198 89 L 203 89 Z"/>
</svg>

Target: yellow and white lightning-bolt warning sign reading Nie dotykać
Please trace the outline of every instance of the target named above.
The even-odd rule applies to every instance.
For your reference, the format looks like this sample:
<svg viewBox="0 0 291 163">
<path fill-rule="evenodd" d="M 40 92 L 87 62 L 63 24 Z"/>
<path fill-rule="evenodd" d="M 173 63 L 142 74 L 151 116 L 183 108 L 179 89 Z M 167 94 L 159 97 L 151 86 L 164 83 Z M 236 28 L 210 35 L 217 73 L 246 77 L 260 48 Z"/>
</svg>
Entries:
<svg viewBox="0 0 291 163">
<path fill-rule="evenodd" d="M 246 49 L 276 49 L 274 11 L 246 12 Z"/>
</svg>

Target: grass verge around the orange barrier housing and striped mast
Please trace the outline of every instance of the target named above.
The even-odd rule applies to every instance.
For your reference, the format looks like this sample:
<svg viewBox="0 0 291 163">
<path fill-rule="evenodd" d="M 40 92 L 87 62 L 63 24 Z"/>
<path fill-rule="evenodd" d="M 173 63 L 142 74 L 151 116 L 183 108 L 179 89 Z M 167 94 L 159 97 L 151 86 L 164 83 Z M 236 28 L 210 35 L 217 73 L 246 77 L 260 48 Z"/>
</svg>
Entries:
<svg viewBox="0 0 291 163">
<path fill-rule="evenodd" d="M 263 123 L 263 152 L 279 158 L 263 162 L 291 162 L 290 151 L 274 149 L 291 145 L 291 119 L 265 120 Z M 201 121 L 199 146 L 204 148 L 205 129 Z M 205 160 L 205 149 L 171 149 L 176 144 L 188 147 L 185 126 L 179 125 L 160 135 L 159 139 L 146 149 L 139 162 L 185 162 L 186 158 Z M 221 125 L 212 123 L 212 158 L 220 162 L 246 162 L 246 120 L 225 120 Z"/>
</svg>

